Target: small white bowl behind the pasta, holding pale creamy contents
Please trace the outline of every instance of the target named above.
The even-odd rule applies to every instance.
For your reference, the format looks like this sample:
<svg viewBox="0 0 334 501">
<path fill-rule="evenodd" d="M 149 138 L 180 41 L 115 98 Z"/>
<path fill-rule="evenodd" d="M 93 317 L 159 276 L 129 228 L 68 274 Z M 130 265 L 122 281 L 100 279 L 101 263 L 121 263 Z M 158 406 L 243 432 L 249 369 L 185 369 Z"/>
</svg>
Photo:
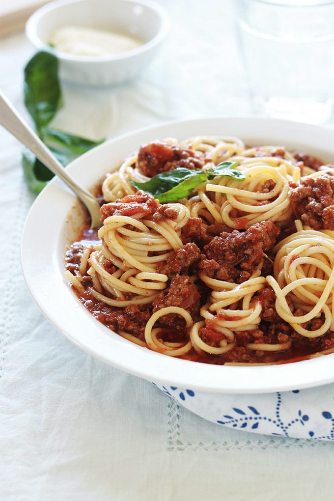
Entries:
<svg viewBox="0 0 334 501">
<path fill-rule="evenodd" d="M 139 47 L 108 56 L 76 56 L 50 46 L 55 30 L 75 26 L 122 33 L 143 41 Z M 167 12 L 150 0 L 60 0 L 36 11 L 26 35 L 39 51 L 55 54 L 60 78 L 82 85 L 106 86 L 135 77 L 156 55 L 169 31 Z"/>
</svg>

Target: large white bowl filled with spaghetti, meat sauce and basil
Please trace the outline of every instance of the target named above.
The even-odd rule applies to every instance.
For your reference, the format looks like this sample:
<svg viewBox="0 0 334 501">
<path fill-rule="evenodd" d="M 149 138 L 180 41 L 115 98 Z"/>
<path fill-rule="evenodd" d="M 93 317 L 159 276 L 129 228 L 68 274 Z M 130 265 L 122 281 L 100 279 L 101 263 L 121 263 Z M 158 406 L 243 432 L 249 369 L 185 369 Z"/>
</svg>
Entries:
<svg viewBox="0 0 334 501">
<path fill-rule="evenodd" d="M 333 163 L 329 129 L 271 119 L 116 138 L 68 166 L 101 200 L 100 228 L 58 179 L 35 201 L 26 282 L 72 342 L 160 387 L 332 382 Z"/>
</svg>

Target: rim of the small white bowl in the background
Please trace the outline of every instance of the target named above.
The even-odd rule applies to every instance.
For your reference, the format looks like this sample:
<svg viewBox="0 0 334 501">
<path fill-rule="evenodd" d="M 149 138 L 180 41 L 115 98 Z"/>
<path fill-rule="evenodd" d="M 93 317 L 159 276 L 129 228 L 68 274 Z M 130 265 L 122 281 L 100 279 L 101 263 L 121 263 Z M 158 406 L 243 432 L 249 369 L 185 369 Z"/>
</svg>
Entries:
<svg viewBox="0 0 334 501">
<path fill-rule="evenodd" d="M 130 59 L 132 57 L 142 54 L 143 52 L 149 51 L 151 48 L 158 46 L 160 42 L 163 41 L 163 39 L 170 30 L 171 22 L 169 14 L 159 4 L 156 4 L 152 0 L 122 0 L 122 2 L 124 3 L 129 3 L 129 4 L 133 3 L 133 4 L 138 4 L 139 6 L 143 5 L 145 7 L 148 7 L 153 11 L 155 11 L 161 19 L 161 27 L 158 33 L 153 38 L 141 44 L 140 46 L 135 47 L 134 49 L 106 56 L 76 56 L 74 54 L 68 54 L 65 52 L 58 51 L 54 47 L 51 47 L 45 42 L 43 42 L 38 37 L 36 27 L 41 22 L 45 14 L 57 9 L 58 7 L 63 7 L 68 4 L 79 4 L 81 2 L 86 2 L 86 1 L 87 0 L 54 0 L 50 4 L 46 4 L 37 11 L 35 11 L 30 16 L 30 18 L 26 23 L 26 36 L 28 40 L 32 43 L 32 45 L 39 48 L 41 51 L 43 50 L 46 52 L 50 52 L 55 56 L 57 56 L 57 58 L 60 60 L 68 62 L 77 62 L 77 63 L 90 63 L 94 65 L 103 62 L 112 62 L 112 61 L 116 62 L 119 60 Z M 111 0 L 111 2 L 113 1 L 114 0 Z M 119 0 L 116 1 L 118 2 Z"/>
</svg>

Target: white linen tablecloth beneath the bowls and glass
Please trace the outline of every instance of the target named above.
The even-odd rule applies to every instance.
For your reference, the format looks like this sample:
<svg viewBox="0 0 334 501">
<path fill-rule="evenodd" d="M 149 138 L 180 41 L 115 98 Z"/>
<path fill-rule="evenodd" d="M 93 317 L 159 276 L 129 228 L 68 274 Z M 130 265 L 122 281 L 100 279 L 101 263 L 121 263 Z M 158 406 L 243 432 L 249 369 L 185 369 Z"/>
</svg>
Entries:
<svg viewBox="0 0 334 501">
<path fill-rule="evenodd" d="M 64 85 L 59 127 L 98 139 L 171 119 L 252 114 L 232 2 L 160 3 L 173 28 L 159 58 L 115 89 Z M 33 54 L 24 33 L 0 39 L 0 87 L 23 114 L 23 68 Z M 21 151 L 1 128 L 0 499 L 332 499 L 332 441 L 212 424 L 95 360 L 48 323 L 20 268 L 34 199 Z"/>
</svg>

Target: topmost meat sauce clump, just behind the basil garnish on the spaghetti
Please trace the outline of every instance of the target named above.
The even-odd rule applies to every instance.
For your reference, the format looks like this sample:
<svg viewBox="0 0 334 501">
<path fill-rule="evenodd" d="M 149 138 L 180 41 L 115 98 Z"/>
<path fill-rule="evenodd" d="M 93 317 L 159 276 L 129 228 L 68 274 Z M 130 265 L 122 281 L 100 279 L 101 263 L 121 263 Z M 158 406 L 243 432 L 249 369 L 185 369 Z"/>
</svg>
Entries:
<svg viewBox="0 0 334 501">
<path fill-rule="evenodd" d="M 142 146 L 138 152 L 138 170 L 147 177 L 154 177 L 160 172 L 174 170 L 177 167 L 201 169 L 205 164 L 203 157 L 190 148 L 155 141 Z"/>
</svg>

